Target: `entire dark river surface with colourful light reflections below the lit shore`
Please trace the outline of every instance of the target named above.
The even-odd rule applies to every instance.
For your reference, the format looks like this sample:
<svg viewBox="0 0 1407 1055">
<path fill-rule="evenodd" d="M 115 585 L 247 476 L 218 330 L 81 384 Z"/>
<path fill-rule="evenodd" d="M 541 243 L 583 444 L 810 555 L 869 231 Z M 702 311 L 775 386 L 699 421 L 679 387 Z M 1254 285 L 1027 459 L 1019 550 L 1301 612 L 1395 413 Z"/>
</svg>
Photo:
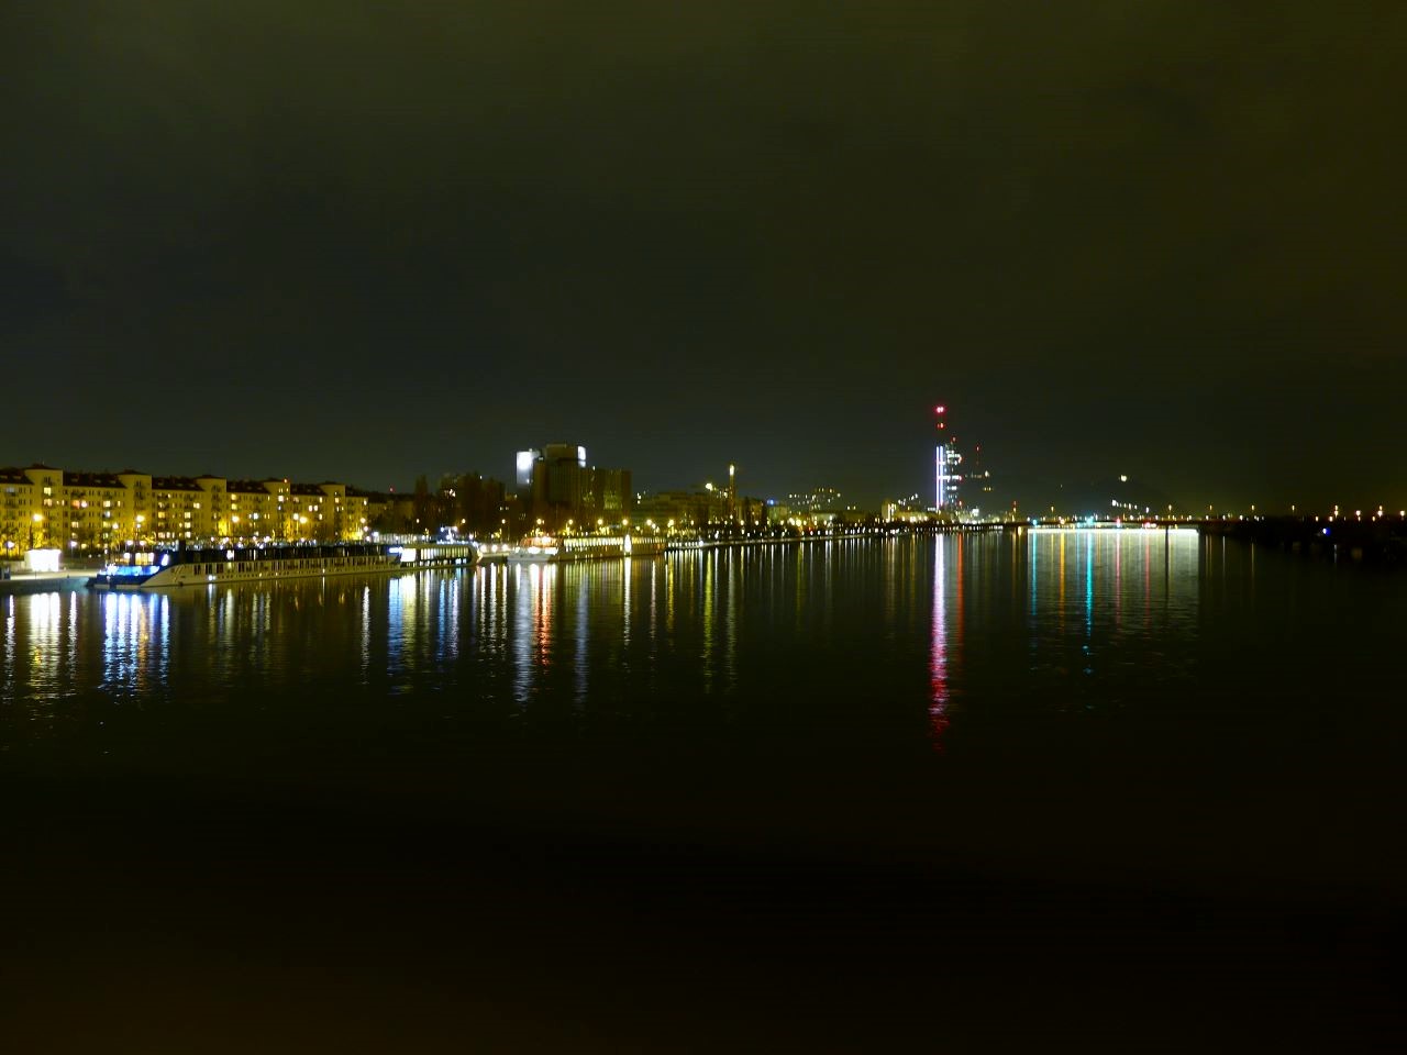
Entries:
<svg viewBox="0 0 1407 1055">
<path fill-rule="evenodd" d="M 1404 657 L 1178 532 L 0 598 L 0 1034 L 1396 1048 Z"/>
</svg>

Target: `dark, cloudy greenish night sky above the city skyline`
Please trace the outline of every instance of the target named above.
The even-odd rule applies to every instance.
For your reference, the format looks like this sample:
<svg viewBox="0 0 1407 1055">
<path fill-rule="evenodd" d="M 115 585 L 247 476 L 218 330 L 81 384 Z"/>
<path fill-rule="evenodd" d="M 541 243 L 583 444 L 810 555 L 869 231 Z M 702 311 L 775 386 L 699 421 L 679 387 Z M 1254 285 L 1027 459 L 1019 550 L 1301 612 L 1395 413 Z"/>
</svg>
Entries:
<svg viewBox="0 0 1407 1055">
<path fill-rule="evenodd" d="M 1407 505 L 1407 4 L 0 14 L 0 464 Z"/>
</svg>

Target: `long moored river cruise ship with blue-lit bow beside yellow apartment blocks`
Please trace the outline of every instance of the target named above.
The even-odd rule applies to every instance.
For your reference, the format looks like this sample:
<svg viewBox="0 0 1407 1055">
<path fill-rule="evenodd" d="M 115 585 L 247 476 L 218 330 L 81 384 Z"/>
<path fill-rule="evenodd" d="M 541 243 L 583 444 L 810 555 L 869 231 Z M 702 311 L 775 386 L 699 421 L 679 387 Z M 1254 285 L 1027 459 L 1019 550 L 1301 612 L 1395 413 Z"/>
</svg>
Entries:
<svg viewBox="0 0 1407 1055">
<path fill-rule="evenodd" d="M 471 542 L 384 546 L 339 543 L 329 546 L 249 546 L 148 550 L 127 554 L 87 581 L 89 589 L 163 589 L 272 582 L 310 575 L 369 575 L 419 571 L 421 568 L 473 567 L 478 546 Z"/>
</svg>

